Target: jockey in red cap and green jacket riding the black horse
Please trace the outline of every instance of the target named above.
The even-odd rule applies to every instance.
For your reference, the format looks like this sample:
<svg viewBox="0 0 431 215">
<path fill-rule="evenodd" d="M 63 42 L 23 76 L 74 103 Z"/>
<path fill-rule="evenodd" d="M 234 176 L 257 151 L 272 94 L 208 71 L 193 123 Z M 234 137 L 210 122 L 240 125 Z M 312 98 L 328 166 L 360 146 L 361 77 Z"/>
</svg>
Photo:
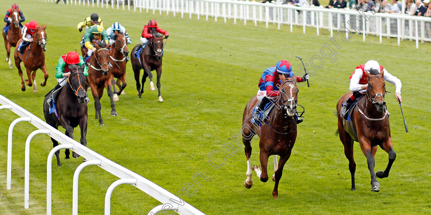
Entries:
<svg viewBox="0 0 431 215">
<path fill-rule="evenodd" d="M 58 64 L 55 67 L 55 70 L 57 71 L 55 74 L 55 77 L 57 78 L 58 84 L 52 89 L 49 93 L 51 93 L 51 98 L 47 101 L 49 106 L 52 107 L 52 99 L 54 100 L 54 103 L 56 102 L 57 95 L 66 84 L 67 84 L 67 77 L 70 75 L 69 71 L 69 64 L 77 64 L 79 66 L 82 66 L 84 64 L 84 60 L 82 56 L 78 54 L 76 51 L 71 51 L 67 54 L 63 54 L 60 59 L 58 59 Z M 85 65 L 85 64 L 84 64 Z M 88 67 L 85 66 L 84 68 L 84 76 L 88 76 Z M 88 98 L 86 98 L 87 102 L 89 101 Z"/>
</svg>

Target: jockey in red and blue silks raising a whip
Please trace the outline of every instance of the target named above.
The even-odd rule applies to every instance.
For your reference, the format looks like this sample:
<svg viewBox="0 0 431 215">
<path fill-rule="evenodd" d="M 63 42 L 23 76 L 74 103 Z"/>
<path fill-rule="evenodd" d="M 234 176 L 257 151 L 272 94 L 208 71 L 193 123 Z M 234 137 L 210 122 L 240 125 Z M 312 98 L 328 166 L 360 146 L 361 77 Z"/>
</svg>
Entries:
<svg viewBox="0 0 431 215">
<path fill-rule="evenodd" d="M 265 69 L 261 78 L 259 80 L 259 91 L 257 98 L 261 102 L 253 113 L 253 120 L 258 122 L 259 112 L 263 111 L 265 105 L 271 102 L 271 97 L 276 97 L 280 95 L 279 86 L 286 81 L 287 77 L 292 77 L 296 82 L 305 82 L 309 79 L 309 75 L 305 74 L 303 77 L 296 77 L 292 72 L 292 66 L 288 61 L 279 61 L 275 67 L 269 67 Z M 303 121 L 302 118 L 298 116 L 298 112 L 295 114 L 296 123 L 299 124 Z"/>
</svg>

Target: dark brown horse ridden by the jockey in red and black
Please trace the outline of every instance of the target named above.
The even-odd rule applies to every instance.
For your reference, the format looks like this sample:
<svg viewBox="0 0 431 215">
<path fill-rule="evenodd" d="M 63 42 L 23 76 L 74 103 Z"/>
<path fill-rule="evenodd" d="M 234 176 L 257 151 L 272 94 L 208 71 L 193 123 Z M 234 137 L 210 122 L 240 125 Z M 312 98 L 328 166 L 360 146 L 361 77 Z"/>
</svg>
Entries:
<svg viewBox="0 0 431 215">
<path fill-rule="evenodd" d="M 161 36 L 154 28 L 152 28 L 151 33 L 153 36 L 148 42 L 149 44 L 145 46 L 139 59 L 134 56 L 136 52 L 136 48 L 139 46 L 139 44 L 132 49 L 132 54 L 131 54 L 132 68 L 133 68 L 135 81 L 136 81 L 136 89 L 138 89 L 138 95 L 140 98 L 142 93 L 144 92 L 144 83 L 147 76 L 150 78 L 150 90 L 154 90 L 151 71 L 152 70 L 156 71 L 157 73 L 156 86 L 159 89 L 159 102 L 163 102 L 162 94 L 160 93 L 160 76 L 162 75 L 162 56 L 163 56 L 163 47 L 164 47 L 163 36 Z M 144 69 L 144 75 L 142 76 L 142 87 L 139 82 L 141 69 Z"/>
</svg>

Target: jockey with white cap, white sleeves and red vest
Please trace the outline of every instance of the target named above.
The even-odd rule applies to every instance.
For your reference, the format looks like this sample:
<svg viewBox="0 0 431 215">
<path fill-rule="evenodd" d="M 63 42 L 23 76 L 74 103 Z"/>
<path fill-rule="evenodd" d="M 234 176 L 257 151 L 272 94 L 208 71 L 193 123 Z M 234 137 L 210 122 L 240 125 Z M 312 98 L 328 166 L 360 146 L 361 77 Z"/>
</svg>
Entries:
<svg viewBox="0 0 431 215">
<path fill-rule="evenodd" d="M 384 67 L 380 66 L 377 61 L 370 60 L 365 65 L 359 65 L 356 67 L 355 71 L 350 75 L 350 86 L 349 89 L 352 91 L 350 97 L 343 103 L 341 108 L 341 114 L 344 115 L 349 109 L 350 105 L 355 102 L 355 100 L 364 94 L 368 87 L 368 79 L 365 72 L 370 74 L 379 74 L 383 70 L 383 79 L 391 84 L 395 85 L 395 99 L 398 102 L 402 102 L 401 97 L 401 81 L 394 75 L 391 75 Z"/>
</svg>

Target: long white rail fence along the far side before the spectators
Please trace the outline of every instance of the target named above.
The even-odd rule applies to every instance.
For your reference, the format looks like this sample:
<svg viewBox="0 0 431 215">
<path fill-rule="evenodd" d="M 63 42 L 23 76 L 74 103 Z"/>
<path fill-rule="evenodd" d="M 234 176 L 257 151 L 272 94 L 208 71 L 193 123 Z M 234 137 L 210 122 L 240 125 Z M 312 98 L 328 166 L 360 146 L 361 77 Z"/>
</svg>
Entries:
<svg viewBox="0 0 431 215">
<path fill-rule="evenodd" d="M 54 1 L 54 0 L 41 0 L 41 1 Z M 63 1 L 63 0 L 62 0 Z M 131 1 L 131 2 L 130 2 Z M 302 25 L 305 33 L 305 27 L 316 28 L 317 35 L 320 29 L 328 29 L 332 37 L 333 30 L 338 30 L 345 27 L 350 32 L 363 35 L 365 42 L 366 35 L 375 35 L 379 37 L 382 43 L 382 37 L 396 37 L 398 38 L 398 45 L 402 40 L 416 41 L 416 48 L 419 48 L 420 42 L 431 42 L 431 17 L 424 16 L 409 16 L 406 14 L 396 13 L 371 13 L 361 12 L 357 10 L 344 10 L 344 9 L 326 9 L 322 7 L 296 7 L 292 5 L 279 5 L 271 3 L 258 3 L 249 1 L 235 1 L 235 0 L 66 0 L 67 4 L 82 4 L 85 6 L 96 4 L 97 7 L 105 6 L 114 8 L 125 9 L 127 4 L 130 10 L 130 4 L 133 5 L 134 11 L 139 9 L 152 11 L 155 13 L 159 11 L 172 12 L 173 15 L 184 13 L 197 15 L 198 19 L 204 16 L 206 20 L 208 17 L 214 17 L 215 21 L 222 18 L 224 22 L 226 19 L 233 19 L 236 24 L 237 19 L 247 24 L 251 21 L 254 25 L 265 23 L 268 27 L 269 23 L 277 24 L 280 29 L 282 25 L 290 26 L 292 31 L 293 25 Z M 130 3 L 130 4 L 129 4 Z"/>
</svg>

